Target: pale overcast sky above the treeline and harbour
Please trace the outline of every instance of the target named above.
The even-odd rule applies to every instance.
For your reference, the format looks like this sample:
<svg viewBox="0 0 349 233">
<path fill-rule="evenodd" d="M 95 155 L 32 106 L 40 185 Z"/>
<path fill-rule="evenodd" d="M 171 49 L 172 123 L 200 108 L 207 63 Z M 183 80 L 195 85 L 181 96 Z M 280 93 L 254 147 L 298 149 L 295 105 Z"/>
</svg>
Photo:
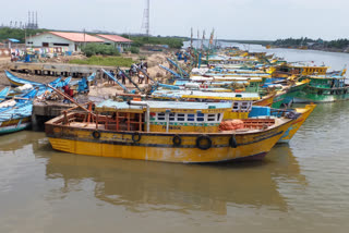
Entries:
<svg viewBox="0 0 349 233">
<path fill-rule="evenodd" d="M 140 33 L 146 0 L 1 0 L 0 24 L 27 21 L 39 27 Z M 216 29 L 225 39 L 349 36 L 348 0 L 151 0 L 151 34 L 190 36 Z M 144 30 L 143 30 L 144 33 Z"/>
</svg>

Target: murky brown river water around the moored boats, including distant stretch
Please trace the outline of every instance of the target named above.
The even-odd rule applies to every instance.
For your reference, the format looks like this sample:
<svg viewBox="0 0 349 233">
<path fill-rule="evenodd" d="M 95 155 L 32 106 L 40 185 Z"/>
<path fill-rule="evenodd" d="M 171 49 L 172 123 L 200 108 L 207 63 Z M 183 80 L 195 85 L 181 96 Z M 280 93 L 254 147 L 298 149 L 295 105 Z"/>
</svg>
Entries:
<svg viewBox="0 0 349 233">
<path fill-rule="evenodd" d="M 44 133 L 4 135 L 0 232 L 348 232 L 348 124 L 349 102 L 321 105 L 264 161 L 220 165 L 76 156 L 53 151 Z"/>
</svg>

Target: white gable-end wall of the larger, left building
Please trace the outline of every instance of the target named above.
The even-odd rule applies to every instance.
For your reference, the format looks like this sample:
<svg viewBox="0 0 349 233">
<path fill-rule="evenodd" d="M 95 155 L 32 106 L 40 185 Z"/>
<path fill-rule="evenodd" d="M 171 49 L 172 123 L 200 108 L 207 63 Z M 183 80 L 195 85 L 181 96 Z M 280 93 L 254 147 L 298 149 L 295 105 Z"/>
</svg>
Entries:
<svg viewBox="0 0 349 233">
<path fill-rule="evenodd" d="M 33 44 L 31 44 L 33 42 Z M 27 37 L 26 39 L 26 46 L 27 47 L 44 47 L 43 42 L 48 42 L 49 48 L 53 47 L 65 47 L 65 46 L 55 46 L 53 44 L 68 44 L 69 50 L 70 51 L 75 51 L 75 42 L 70 41 L 68 39 L 64 39 L 62 37 L 49 34 L 49 33 L 44 33 L 38 36 L 34 37 Z"/>
</svg>

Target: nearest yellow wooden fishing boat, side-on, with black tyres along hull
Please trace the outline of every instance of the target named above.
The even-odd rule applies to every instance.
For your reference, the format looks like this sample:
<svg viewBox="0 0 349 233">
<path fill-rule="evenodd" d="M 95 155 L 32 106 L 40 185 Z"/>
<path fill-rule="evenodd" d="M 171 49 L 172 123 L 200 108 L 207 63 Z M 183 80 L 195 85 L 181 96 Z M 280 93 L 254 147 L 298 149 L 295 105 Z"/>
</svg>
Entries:
<svg viewBox="0 0 349 233">
<path fill-rule="evenodd" d="M 70 112 L 46 123 L 53 149 L 166 162 L 262 159 L 296 119 L 246 119 L 221 131 L 231 102 L 104 101 L 95 111 Z"/>
</svg>

